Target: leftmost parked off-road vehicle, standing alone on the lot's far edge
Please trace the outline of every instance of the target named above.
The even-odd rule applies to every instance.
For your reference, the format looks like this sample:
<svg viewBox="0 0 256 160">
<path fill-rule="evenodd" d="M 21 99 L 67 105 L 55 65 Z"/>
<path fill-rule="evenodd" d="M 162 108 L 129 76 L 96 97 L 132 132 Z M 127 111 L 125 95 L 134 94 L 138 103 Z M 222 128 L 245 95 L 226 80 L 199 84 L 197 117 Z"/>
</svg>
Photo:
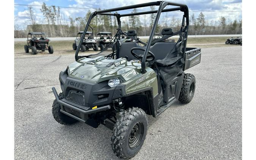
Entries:
<svg viewBox="0 0 256 160">
<path fill-rule="evenodd" d="M 27 45 L 24 45 L 25 52 L 28 53 L 29 49 L 32 50 L 32 54 L 35 55 L 37 50 L 44 52 L 48 50 L 50 54 L 53 53 L 53 47 L 48 45 L 50 39 L 46 38 L 44 32 L 29 32 Z"/>
</svg>

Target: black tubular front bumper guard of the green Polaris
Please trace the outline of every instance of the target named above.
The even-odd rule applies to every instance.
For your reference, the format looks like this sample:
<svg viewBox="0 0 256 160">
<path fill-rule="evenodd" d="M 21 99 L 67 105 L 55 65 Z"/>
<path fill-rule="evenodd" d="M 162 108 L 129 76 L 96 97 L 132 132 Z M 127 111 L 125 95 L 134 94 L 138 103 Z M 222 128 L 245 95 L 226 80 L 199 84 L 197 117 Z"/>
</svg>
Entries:
<svg viewBox="0 0 256 160">
<path fill-rule="evenodd" d="M 76 107 L 74 105 L 71 105 L 71 104 L 68 104 L 67 102 L 64 102 L 63 100 L 60 100 L 59 97 L 58 97 L 58 94 L 57 94 L 57 91 L 56 89 L 53 87 L 52 88 L 52 91 L 53 91 L 53 94 L 57 100 L 57 102 L 60 104 L 61 106 L 61 112 L 64 113 L 65 115 L 68 115 L 74 119 L 77 119 L 79 121 L 82 121 L 82 122 L 86 122 L 86 120 L 88 119 L 88 115 L 92 114 L 92 113 L 96 113 L 96 112 L 99 112 L 99 111 L 105 111 L 105 110 L 109 110 L 110 109 L 110 105 L 105 105 L 105 106 L 102 106 L 102 107 L 99 107 L 99 108 L 96 108 L 96 109 L 92 109 L 92 108 L 86 108 L 87 110 L 83 110 L 83 109 L 80 109 L 79 107 Z M 79 115 L 80 116 L 75 116 L 71 113 L 68 113 L 64 108 L 70 108 L 71 110 L 74 110 L 74 111 L 77 111 L 78 113 L 80 113 Z"/>
</svg>

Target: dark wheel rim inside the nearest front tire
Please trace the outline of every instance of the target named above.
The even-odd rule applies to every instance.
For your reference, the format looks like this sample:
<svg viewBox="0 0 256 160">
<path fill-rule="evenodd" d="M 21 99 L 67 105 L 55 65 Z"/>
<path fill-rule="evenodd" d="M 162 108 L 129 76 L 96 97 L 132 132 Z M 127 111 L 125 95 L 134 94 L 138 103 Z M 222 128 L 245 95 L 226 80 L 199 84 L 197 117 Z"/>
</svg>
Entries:
<svg viewBox="0 0 256 160">
<path fill-rule="evenodd" d="M 129 147 L 136 148 L 142 139 L 144 133 L 144 127 L 142 122 L 137 122 L 133 127 L 129 135 Z"/>
</svg>

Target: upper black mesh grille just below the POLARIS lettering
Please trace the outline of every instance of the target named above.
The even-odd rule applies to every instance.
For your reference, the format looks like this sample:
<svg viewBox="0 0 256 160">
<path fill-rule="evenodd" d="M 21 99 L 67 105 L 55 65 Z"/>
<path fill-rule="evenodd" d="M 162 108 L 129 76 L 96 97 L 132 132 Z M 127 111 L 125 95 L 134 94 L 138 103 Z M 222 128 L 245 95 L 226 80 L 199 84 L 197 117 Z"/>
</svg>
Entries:
<svg viewBox="0 0 256 160">
<path fill-rule="evenodd" d="M 79 91 L 70 90 L 66 100 L 74 102 L 79 105 L 85 105 L 85 94 Z"/>
</svg>

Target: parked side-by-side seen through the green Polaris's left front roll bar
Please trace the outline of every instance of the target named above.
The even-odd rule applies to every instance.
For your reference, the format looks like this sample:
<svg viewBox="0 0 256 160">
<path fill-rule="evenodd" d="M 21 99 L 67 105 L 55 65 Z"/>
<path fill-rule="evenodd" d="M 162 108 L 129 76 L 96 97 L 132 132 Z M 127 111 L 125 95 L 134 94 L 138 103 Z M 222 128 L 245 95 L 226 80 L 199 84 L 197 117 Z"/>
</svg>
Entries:
<svg viewBox="0 0 256 160">
<path fill-rule="evenodd" d="M 77 33 L 77 37 L 75 38 L 75 43 L 73 43 L 73 50 L 77 50 L 80 39 L 83 35 L 83 31 Z M 88 51 L 89 49 L 93 49 L 94 51 L 98 51 L 98 46 L 96 39 L 93 39 L 93 32 L 86 31 L 85 38 L 83 39 L 83 43 L 81 45 L 81 52 Z"/>
</svg>

